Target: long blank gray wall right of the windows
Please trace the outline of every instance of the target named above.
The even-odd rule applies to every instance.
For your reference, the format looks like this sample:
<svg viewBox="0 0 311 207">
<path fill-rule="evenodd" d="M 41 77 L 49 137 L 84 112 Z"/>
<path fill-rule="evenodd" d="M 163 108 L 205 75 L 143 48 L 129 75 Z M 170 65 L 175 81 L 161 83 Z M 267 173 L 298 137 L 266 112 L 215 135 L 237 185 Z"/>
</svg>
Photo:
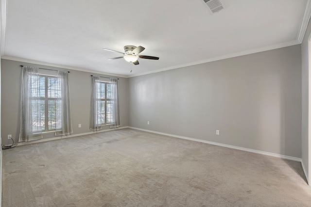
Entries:
<svg viewBox="0 0 311 207">
<path fill-rule="evenodd" d="M 301 158 L 300 45 L 133 77 L 128 96 L 131 127 Z"/>
</svg>

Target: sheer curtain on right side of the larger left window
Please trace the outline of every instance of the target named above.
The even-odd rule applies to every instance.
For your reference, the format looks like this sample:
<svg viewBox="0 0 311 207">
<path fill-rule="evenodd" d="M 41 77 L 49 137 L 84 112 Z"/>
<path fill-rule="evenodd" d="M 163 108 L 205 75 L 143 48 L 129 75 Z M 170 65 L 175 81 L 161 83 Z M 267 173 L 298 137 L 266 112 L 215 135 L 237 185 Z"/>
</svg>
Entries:
<svg viewBox="0 0 311 207">
<path fill-rule="evenodd" d="M 68 72 L 58 71 L 60 80 L 60 98 L 56 100 L 56 127 L 55 136 L 66 136 L 72 134 L 70 114 L 70 93 L 68 83 Z"/>
</svg>

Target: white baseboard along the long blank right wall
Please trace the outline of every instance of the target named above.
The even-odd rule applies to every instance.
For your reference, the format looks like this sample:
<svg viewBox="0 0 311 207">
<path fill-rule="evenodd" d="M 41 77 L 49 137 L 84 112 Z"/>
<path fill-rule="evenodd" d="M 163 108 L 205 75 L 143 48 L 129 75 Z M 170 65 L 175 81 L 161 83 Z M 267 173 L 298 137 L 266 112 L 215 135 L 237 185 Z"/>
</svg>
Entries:
<svg viewBox="0 0 311 207">
<path fill-rule="evenodd" d="M 268 156 L 272 156 L 272 157 L 276 157 L 276 158 L 290 159 L 290 160 L 301 162 L 301 158 L 279 155 L 279 154 L 275 154 L 275 153 L 271 153 L 271 152 L 264 152 L 264 151 L 259 151 L 259 150 L 255 150 L 255 149 L 248 149 L 248 148 L 244 148 L 244 147 L 233 146 L 233 145 L 222 144 L 222 143 L 214 143 L 214 142 L 209 142 L 206 140 L 193 139 L 190 137 L 183 137 L 183 136 L 174 135 L 174 134 L 167 134 L 167 133 L 152 131 L 152 130 L 143 129 L 143 128 L 136 128 L 136 127 L 129 127 L 129 128 L 137 129 L 137 130 L 141 130 L 141 131 L 147 131 L 147 132 L 151 132 L 151 133 L 155 133 L 155 134 L 161 134 L 161 135 L 170 136 L 170 137 L 176 137 L 176 138 L 180 138 L 180 139 L 184 139 L 184 140 L 191 140 L 191 141 L 200 142 L 200 143 L 213 144 L 213 145 L 228 147 L 228 148 L 232 148 L 232 149 L 238 149 L 238 150 L 242 150 L 242 151 L 253 152 L 253 153 L 257 153 L 257 154 L 261 154 L 261 155 L 268 155 Z"/>
</svg>

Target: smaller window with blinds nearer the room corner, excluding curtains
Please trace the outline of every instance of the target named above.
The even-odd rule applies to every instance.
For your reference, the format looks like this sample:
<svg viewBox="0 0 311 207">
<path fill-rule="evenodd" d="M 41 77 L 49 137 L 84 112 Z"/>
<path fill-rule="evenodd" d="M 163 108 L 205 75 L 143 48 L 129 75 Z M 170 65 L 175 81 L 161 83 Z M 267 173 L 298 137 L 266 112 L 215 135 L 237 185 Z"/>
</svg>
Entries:
<svg viewBox="0 0 311 207">
<path fill-rule="evenodd" d="M 108 82 L 98 81 L 96 83 L 96 102 L 98 104 L 97 123 L 108 125 L 112 120 L 112 99 L 111 99 L 111 84 Z"/>
</svg>

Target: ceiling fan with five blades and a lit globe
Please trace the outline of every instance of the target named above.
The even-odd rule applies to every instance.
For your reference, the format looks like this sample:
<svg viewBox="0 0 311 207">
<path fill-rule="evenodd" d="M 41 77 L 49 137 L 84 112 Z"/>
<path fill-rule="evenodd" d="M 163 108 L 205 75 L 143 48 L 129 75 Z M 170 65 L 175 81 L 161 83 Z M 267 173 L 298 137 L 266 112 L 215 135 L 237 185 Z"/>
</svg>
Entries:
<svg viewBox="0 0 311 207">
<path fill-rule="evenodd" d="M 124 58 L 127 62 L 137 65 L 139 64 L 138 58 L 149 59 L 149 60 L 159 60 L 158 57 L 154 57 L 154 56 L 138 55 L 140 52 L 142 52 L 145 49 L 144 47 L 141 47 L 141 46 L 138 46 L 138 47 L 132 46 L 132 45 L 124 46 L 124 52 L 119 52 L 113 49 L 106 49 L 106 48 L 103 48 L 103 49 L 112 51 L 112 52 L 118 52 L 124 55 L 121 57 L 109 58 L 108 61 Z"/>
</svg>

